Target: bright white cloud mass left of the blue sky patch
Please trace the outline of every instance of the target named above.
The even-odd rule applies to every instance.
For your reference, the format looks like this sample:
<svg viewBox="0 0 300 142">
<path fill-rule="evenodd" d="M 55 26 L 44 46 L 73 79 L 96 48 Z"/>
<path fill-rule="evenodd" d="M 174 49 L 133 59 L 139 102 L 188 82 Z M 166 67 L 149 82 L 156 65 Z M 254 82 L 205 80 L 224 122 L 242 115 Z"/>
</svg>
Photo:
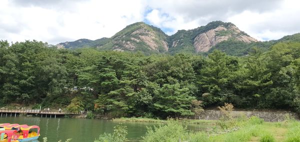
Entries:
<svg viewBox="0 0 300 142">
<path fill-rule="evenodd" d="M 64 0 L 65 1 L 65 0 Z M 69 1 L 64 6 L 23 6 L 5 0 L 0 6 L 0 39 L 36 39 L 51 44 L 79 38 L 110 37 L 126 25 L 143 20 L 140 0 Z M 71 9 L 70 9 L 71 7 Z M 17 30 L 17 31 L 15 31 Z"/>
</svg>

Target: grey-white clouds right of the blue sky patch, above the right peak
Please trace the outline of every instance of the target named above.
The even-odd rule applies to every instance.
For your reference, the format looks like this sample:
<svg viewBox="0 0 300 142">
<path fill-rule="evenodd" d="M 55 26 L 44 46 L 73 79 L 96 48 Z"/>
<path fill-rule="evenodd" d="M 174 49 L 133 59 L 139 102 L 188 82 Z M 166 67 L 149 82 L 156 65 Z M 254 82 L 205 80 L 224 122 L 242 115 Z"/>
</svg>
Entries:
<svg viewBox="0 0 300 142">
<path fill-rule="evenodd" d="M 259 40 L 300 32 L 298 0 L 150 0 L 147 4 L 154 9 L 149 14 L 155 13 L 150 23 L 173 29 L 168 33 L 213 20 L 232 22 Z"/>
</svg>

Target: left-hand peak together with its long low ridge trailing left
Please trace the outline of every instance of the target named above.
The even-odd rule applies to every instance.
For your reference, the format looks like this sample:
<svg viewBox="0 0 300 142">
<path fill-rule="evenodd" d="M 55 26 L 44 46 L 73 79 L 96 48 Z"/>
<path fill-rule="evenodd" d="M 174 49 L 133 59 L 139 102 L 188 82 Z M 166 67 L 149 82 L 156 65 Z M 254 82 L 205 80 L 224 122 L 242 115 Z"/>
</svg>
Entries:
<svg viewBox="0 0 300 142">
<path fill-rule="evenodd" d="M 167 52 L 168 35 L 159 28 L 144 22 L 127 25 L 110 38 L 78 39 L 56 44 L 57 48 L 97 47 L 101 50 Z"/>
</svg>

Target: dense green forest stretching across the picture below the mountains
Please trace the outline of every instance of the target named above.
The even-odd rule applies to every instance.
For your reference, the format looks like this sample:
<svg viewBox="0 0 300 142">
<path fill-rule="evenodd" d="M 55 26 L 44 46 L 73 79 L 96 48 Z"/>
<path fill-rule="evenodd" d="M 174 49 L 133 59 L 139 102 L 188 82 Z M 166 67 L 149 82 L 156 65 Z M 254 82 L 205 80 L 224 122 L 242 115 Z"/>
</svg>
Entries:
<svg viewBox="0 0 300 142">
<path fill-rule="evenodd" d="M 188 116 L 197 107 L 300 110 L 300 42 L 246 56 L 57 49 L 0 41 L 0 105 L 35 104 L 117 116 Z"/>
</svg>

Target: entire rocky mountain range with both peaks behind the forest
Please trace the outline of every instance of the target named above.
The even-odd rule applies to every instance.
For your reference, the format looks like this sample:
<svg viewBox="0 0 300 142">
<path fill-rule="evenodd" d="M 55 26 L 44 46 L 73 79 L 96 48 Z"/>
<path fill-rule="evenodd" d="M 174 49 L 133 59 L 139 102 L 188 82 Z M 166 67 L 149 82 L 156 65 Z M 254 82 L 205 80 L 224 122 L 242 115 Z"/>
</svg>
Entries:
<svg viewBox="0 0 300 142">
<path fill-rule="evenodd" d="M 290 37 L 285 37 L 290 38 Z M 283 39 L 285 40 L 285 39 Z M 231 45 L 232 44 L 232 45 Z M 173 35 L 166 35 L 161 29 L 144 22 L 136 22 L 110 38 L 97 40 L 78 39 L 58 43 L 58 48 L 97 47 L 100 50 L 142 51 L 150 53 L 207 53 L 220 49 L 232 55 L 247 54 L 248 48 L 254 45 L 266 46 L 231 22 L 212 21 L 207 25 L 189 30 L 178 30 Z M 230 51 L 232 53 L 230 53 Z"/>
</svg>

